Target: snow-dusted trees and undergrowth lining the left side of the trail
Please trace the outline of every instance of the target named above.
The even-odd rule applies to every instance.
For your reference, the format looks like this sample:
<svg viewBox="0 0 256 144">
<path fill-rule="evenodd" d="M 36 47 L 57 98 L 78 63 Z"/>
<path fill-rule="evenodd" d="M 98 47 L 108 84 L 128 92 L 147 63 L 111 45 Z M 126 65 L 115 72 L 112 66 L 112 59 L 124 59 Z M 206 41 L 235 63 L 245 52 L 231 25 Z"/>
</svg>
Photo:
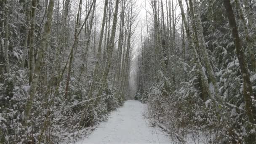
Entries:
<svg viewBox="0 0 256 144">
<path fill-rule="evenodd" d="M 1 144 L 74 143 L 123 104 L 135 3 L 0 1 Z"/>
</svg>

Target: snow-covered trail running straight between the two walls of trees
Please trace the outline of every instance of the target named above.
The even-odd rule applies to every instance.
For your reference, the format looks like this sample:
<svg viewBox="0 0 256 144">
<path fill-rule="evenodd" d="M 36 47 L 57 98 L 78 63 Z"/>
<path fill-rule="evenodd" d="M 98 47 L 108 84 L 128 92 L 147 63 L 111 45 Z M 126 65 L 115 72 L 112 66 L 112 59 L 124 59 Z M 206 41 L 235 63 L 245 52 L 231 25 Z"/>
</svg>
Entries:
<svg viewBox="0 0 256 144">
<path fill-rule="evenodd" d="M 125 101 L 123 107 L 111 113 L 107 122 L 101 123 L 88 138 L 77 144 L 171 143 L 159 129 L 149 127 L 142 116 L 145 107 L 139 101 Z"/>
</svg>

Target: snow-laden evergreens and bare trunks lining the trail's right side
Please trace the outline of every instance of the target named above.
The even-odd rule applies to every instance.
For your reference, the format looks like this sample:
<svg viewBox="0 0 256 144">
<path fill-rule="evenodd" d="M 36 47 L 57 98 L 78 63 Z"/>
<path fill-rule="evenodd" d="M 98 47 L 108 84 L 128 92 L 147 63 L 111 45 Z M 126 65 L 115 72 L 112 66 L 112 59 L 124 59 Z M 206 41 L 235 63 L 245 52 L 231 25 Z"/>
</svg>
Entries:
<svg viewBox="0 0 256 144">
<path fill-rule="evenodd" d="M 176 143 L 256 144 L 256 1 L 149 0 L 135 99 Z"/>
</svg>

